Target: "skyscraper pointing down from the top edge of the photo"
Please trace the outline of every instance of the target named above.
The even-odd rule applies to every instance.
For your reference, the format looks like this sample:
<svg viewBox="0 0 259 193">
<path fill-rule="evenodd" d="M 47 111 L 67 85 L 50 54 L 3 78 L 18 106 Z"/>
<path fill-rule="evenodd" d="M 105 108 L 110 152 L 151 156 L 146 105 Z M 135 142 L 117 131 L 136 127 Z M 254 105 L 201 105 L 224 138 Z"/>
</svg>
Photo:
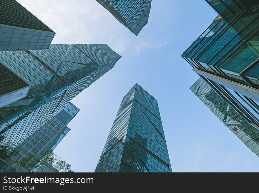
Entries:
<svg viewBox="0 0 259 193">
<path fill-rule="evenodd" d="M 96 0 L 136 36 L 148 23 L 152 0 Z"/>
</svg>

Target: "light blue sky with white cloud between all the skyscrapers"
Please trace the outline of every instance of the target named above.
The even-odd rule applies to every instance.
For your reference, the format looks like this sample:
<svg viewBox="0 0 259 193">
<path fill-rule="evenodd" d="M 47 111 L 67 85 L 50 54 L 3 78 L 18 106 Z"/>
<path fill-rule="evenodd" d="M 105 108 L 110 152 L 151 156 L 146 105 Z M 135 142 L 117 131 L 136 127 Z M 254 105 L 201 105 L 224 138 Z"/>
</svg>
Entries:
<svg viewBox="0 0 259 193">
<path fill-rule="evenodd" d="M 198 79 L 180 56 L 212 23 L 204 0 L 153 0 L 138 36 L 95 0 L 18 0 L 56 32 L 52 43 L 107 43 L 122 58 L 71 102 L 80 108 L 55 152 L 94 172 L 123 96 L 135 83 L 160 108 L 173 172 L 259 172 L 258 157 L 189 90 Z"/>
</svg>

